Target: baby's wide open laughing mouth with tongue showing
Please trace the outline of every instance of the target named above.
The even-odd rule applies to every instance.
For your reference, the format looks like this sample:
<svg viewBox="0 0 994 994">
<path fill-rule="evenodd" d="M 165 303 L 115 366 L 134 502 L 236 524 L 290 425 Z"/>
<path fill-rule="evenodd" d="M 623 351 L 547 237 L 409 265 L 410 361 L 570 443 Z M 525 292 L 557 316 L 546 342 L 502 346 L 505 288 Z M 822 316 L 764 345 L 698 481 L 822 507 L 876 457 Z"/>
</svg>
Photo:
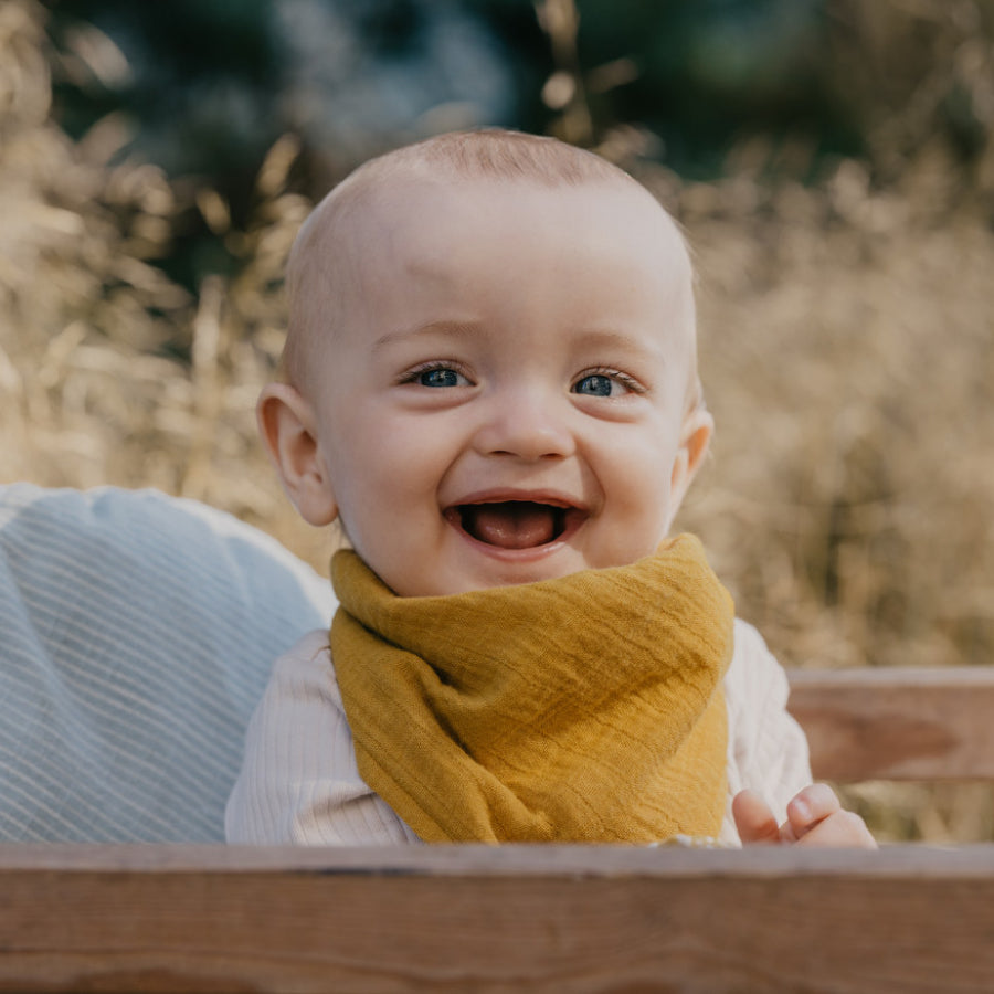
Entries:
<svg viewBox="0 0 994 994">
<path fill-rule="evenodd" d="M 585 517 L 568 505 L 536 500 L 459 504 L 446 517 L 468 536 L 498 549 L 535 549 L 573 531 Z"/>
</svg>

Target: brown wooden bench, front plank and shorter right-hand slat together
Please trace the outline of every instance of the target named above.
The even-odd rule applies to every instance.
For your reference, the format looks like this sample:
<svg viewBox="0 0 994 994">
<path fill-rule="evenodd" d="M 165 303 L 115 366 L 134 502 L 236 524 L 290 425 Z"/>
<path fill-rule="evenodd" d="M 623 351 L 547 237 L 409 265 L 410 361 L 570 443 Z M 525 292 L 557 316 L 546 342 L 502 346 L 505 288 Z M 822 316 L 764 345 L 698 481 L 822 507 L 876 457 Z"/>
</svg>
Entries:
<svg viewBox="0 0 994 994">
<path fill-rule="evenodd" d="M 994 669 L 792 674 L 816 775 L 994 779 Z M 994 990 L 994 845 L 0 846 L 2 991 Z"/>
</svg>

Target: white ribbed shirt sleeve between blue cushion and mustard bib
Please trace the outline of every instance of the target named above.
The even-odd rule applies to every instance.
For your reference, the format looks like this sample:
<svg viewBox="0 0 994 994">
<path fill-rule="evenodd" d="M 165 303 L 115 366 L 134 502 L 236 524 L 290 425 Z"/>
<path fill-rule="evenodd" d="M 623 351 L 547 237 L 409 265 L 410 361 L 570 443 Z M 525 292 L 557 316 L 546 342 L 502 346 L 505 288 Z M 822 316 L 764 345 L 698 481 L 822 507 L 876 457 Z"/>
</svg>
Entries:
<svg viewBox="0 0 994 994">
<path fill-rule="evenodd" d="M 417 837 L 363 783 L 326 631 L 282 656 L 245 737 L 229 843 L 398 845 Z"/>
</svg>

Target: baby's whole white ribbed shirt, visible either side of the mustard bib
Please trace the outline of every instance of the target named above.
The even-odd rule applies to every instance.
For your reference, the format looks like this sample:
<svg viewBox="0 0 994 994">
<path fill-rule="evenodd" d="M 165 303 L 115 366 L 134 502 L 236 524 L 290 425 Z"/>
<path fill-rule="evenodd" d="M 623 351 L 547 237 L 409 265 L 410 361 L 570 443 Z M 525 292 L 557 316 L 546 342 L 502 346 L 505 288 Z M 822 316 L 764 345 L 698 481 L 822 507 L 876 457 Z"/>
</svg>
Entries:
<svg viewBox="0 0 994 994">
<path fill-rule="evenodd" d="M 760 634 L 736 621 L 725 678 L 728 805 L 720 840 L 738 843 L 731 799 L 759 791 L 782 819 L 811 783 L 804 732 L 786 711 L 786 675 Z M 302 638 L 273 670 L 246 733 L 224 819 L 230 843 L 309 846 L 420 843 L 359 775 L 326 631 Z"/>
</svg>

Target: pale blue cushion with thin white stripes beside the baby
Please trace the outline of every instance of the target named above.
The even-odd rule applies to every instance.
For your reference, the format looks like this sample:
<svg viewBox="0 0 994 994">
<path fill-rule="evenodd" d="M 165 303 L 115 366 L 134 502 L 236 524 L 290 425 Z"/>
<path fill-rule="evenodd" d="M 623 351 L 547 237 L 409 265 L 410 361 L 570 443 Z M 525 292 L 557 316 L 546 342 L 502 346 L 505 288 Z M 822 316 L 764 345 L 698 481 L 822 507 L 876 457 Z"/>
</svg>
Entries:
<svg viewBox="0 0 994 994">
<path fill-rule="evenodd" d="M 222 842 L 269 667 L 332 610 L 201 504 L 0 486 L 0 840 Z"/>
</svg>

